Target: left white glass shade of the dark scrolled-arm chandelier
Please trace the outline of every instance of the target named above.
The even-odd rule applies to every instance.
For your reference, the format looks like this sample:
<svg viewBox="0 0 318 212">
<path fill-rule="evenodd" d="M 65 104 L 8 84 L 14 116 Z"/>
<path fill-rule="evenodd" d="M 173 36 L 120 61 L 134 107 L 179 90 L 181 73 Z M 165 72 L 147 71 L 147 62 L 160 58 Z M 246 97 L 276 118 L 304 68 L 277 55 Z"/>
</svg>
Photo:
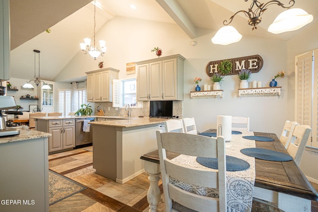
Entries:
<svg viewBox="0 0 318 212">
<path fill-rule="evenodd" d="M 219 45 L 229 45 L 239 42 L 242 35 L 233 26 L 224 26 L 211 39 L 212 43 Z"/>
</svg>

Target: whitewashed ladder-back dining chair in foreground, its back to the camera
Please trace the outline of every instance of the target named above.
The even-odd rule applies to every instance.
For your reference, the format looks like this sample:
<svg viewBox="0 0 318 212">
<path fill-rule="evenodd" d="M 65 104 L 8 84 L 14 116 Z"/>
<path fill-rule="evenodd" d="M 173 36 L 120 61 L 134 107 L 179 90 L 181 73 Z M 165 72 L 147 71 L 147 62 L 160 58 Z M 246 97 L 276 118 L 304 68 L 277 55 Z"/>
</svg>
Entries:
<svg viewBox="0 0 318 212">
<path fill-rule="evenodd" d="M 161 130 L 158 130 L 156 134 L 165 211 L 170 212 L 178 207 L 183 209 L 186 207 L 200 212 L 208 212 L 212 209 L 213 211 L 226 212 L 227 190 L 224 138 L 211 138 L 186 133 L 162 133 Z M 191 156 L 218 158 L 218 169 L 185 166 L 168 159 L 166 151 Z M 185 191 L 173 185 L 169 181 L 169 177 L 193 186 L 218 189 L 219 198 L 200 196 L 193 194 L 191 191 Z"/>
</svg>

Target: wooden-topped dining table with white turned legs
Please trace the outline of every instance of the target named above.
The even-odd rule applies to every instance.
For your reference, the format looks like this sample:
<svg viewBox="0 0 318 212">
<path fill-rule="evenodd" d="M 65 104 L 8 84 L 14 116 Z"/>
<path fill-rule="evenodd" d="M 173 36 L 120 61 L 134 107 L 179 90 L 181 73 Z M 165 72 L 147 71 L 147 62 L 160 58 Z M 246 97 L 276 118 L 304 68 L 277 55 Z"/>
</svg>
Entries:
<svg viewBox="0 0 318 212">
<path fill-rule="evenodd" d="M 209 134 L 215 132 L 215 129 L 209 129 L 204 133 Z M 261 132 L 248 133 L 250 133 L 248 135 L 266 137 L 273 140 L 268 142 L 254 141 L 256 148 L 274 150 L 288 154 L 276 134 Z M 246 134 L 235 135 L 235 138 L 237 141 L 243 141 L 244 135 Z M 237 142 L 236 145 L 233 145 L 232 148 L 238 148 L 238 143 L 239 142 Z M 234 141 L 226 143 L 226 152 L 231 152 L 230 149 L 232 144 L 234 144 Z M 180 157 L 182 155 L 175 152 L 167 152 L 166 155 L 168 159 L 182 160 L 182 157 Z M 145 160 L 145 171 L 149 174 L 150 187 L 147 193 L 147 200 L 150 208 L 149 212 L 157 212 L 161 195 L 159 188 L 159 152 L 158 150 L 148 152 L 140 158 Z M 311 211 L 311 201 L 318 201 L 318 193 L 294 160 L 272 161 L 257 158 L 252 159 L 254 159 L 254 161 L 251 163 L 251 168 L 253 168 L 253 174 L 255 175 L 255 178 L 252 181 L 254 183 L 252 198 L 265 201 L 284 212 Z M 250 210 L 250 208 L 248 210 Z"/>
</svg>

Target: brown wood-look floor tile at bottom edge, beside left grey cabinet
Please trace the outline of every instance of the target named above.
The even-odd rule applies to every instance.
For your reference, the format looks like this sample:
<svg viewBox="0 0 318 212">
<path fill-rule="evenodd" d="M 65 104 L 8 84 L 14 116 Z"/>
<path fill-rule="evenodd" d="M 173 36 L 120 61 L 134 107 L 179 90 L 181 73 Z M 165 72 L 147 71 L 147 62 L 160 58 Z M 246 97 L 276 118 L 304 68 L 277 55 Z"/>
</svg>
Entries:
<svg viewBox="0 0 318 212">
<path fill-rule="evenodd" d="M 94 205 L 95 200 L 77 193 L 49 207 L 50 212 L 81 212 Z"/>
</svg>

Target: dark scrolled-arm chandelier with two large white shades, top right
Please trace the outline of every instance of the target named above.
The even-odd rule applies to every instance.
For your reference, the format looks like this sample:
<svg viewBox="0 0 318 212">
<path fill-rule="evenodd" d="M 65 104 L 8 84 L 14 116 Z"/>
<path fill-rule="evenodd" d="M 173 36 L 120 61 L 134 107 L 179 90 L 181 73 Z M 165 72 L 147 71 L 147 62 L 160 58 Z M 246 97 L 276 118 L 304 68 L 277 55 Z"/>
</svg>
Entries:
<svg viewBox="0 0 318 212">
<path fill-rule="evenodd" d="M 278 0 L 271 0 L 267 3 L 261 3 L 258 0 L 253 0 L 247 11 L 239 10 L 230 17 L 230 21 L 223 21 L 225 26 L 222 27 L 211 39 L 212 43 L 228 45 L 239 42 L 242 35 L 239 34 L 233 26 L 228 26 L 233 21 L 234 17 L 240 12 L 244 13 L 244 15 L 248 17 L 247 23 L 252 26 L 252 30 L 257 29 L 257 24 L 259 24 L 262 20 L 261 15 L 267 10 L 267 7 L 272 4 L 276 4 L 288 10 L 280 13 L 274 22 L 268 27 L 267 31 L 271 33 L 278 34 L 287 31 L 294 31 L 313 21 L 313 15 L 308 14 L 305 10 L 300 8 L 289 9 L 295 4 L 295 0 L 290 0 L 288 3 L 289 5 L 284 5 Z"/>
</svg>

